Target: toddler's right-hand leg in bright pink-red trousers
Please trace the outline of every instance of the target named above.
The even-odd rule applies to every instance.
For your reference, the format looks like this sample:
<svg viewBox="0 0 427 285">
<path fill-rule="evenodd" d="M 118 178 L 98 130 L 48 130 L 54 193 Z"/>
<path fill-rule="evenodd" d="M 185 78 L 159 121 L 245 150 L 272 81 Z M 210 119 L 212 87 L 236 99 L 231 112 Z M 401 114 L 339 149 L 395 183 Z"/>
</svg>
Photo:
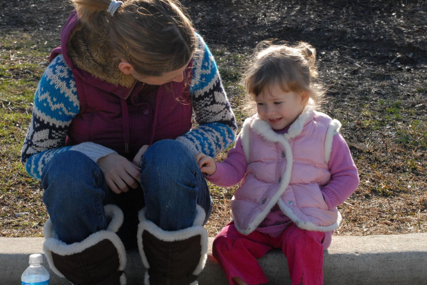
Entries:
<svg viewBox="0 0 427 285">
<path fill-rule="evenodd" d="M 287 257 L 292 284 L 323 284 L 324 233 L 306 231 L 295 224 L 282 235 L 282 250 Z"/>
</svg>

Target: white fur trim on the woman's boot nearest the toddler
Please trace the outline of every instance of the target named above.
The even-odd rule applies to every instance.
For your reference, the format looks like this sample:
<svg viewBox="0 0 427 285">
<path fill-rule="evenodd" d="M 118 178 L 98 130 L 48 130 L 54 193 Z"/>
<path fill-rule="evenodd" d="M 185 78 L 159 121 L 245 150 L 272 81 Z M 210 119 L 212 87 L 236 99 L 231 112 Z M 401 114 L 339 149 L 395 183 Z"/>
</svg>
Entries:
<svg viewBox="0 0 427 285">
<path fill-rule="evenodd" d="M 205 214 L 204 211 L 198 211 L 199 214 Z M 149 263 L 147 261 L 147 257 L 144 253 L 143 248 L 143 231 L 148 231 L 155 237 L 157 237 L 159 240 L 163 240 L 165 242 L 176 242 L 178 240 L 187 240 L 189 237 L 194 237 L 196 235 L 200 235 L 200 246 L 202 249 L 202 252 L 200 254 L 200 261 L 198 263 L 198 266 L 195 268 L 193 275 L 199 275 L 200 272 L 202 272 L 203 267 L 205 267 L 206 260 L 207 260 L 207 230 L 203 226 L 191 226 L 187 229 L 182 229 L 178 231 L 164 231 L 163 229 L 160 229 L 154 222 L 147 220 L 145 218 L 145 209 L 142 209 L 139 211 L 138 214 L 139 218 L 139 225 L 138 225 L 138 249 L 141 256 L 141 259 L 143 260 L 143 264 L 145 268 L 149 268 Z M 199 217 L 196 217 L 196 220 L 201 220 Z M 145 274 L 145 284 L 147 283 L 147 273 Z M 196 283 L 197 284 L 197 283 Z"/>
</svg>

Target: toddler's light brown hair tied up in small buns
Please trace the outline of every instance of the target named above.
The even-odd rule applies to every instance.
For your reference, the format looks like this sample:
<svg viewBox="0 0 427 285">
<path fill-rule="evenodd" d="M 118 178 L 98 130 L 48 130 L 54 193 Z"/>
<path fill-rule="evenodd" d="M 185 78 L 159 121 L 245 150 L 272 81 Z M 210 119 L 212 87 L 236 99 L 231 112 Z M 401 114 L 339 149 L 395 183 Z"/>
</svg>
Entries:
<svg viewBox="0 0 427 285">
<path fill-rule="evenodd" d="M 322 84 L 317 82 L 316 50 L 309 43 L 295 46 L 262 41 L 256 47 L 257 55 L 244 74 L 244 87 L 253 101 L 264 90 L 280 85 L 284 92 L 308 92 L 311 104 L 318 105 L 324 95 Z"/>
</svg>

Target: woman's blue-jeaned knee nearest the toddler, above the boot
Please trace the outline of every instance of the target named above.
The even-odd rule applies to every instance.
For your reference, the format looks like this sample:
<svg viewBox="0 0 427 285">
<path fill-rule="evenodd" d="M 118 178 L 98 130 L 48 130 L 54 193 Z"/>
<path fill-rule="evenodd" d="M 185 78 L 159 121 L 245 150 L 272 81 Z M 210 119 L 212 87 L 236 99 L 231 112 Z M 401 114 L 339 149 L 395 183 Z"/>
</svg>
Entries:
<svg viewBox="0 0 427 285">
<path fill-rule="evenodd" d="M 145 217 L 165 231 L 193 225 L 196 205 L 202 207 L 205 224 L 212 201 L 207 182 L 187 147 L 177 140 L 160 140 L 150 146 L 141 160 L 141 186 Z"/>
</svg>

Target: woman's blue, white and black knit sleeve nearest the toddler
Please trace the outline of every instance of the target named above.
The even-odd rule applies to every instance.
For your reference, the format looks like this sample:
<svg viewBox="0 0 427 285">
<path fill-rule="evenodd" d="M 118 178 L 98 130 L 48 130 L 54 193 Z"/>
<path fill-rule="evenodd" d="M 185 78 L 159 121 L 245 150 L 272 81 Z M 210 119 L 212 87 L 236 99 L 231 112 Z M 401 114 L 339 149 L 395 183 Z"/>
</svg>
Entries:
<svg viewBox="0 0 427 285">
<path fill-rule="evenodd" d="M 201 36 L 196 36 L 190 93 L 197 126 L 177 140 L 193 154 L 215 157 L 233 143 L 237 125 L 216 62 Z"/>
</svg>

